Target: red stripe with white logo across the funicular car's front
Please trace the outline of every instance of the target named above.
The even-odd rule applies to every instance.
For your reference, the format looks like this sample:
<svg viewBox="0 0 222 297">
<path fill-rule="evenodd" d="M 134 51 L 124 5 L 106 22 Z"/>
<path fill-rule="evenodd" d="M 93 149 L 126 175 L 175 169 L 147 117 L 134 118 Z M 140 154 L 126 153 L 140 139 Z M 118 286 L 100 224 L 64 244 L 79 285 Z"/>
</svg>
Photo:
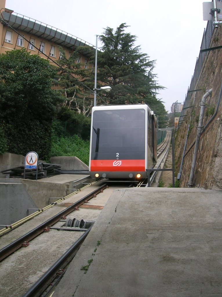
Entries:
<svg viewBox="0 0 222 297">
<path fill-rule="evenodd" d="M 145 171 L 145 160 L 91 160 L 90 171 Z"/>
</svg>

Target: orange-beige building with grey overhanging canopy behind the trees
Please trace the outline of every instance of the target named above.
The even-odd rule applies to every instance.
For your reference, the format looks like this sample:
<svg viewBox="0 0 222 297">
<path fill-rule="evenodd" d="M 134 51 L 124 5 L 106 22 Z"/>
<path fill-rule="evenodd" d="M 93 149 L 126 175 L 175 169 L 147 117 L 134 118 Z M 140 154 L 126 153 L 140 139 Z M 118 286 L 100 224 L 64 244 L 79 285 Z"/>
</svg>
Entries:
<svg viewBox="0 0 222 297">
<path fill-rule="evenodd" d="M 49 59 L 53 63 L 61 56 L 59 46 L 63 48 L 67 58 L 79 46 L 88 45 L 93 49 L 93 45 L 71 34 L 6 9 L 5 0 L 0 0 L 0 10 L 0 53 L 25 48 L 31 54 Z M 86 47 L 77 62 L 83 63 L 85 68 L 93 67 L 88 63 L 90 56 Z"/>
</svg>

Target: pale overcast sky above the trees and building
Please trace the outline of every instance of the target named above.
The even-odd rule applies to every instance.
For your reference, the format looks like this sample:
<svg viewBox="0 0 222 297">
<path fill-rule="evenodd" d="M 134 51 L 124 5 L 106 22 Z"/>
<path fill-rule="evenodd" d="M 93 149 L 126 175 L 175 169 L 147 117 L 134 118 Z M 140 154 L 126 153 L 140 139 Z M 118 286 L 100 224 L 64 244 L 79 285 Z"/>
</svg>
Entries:
<svg viewBox="0 0 222 297">
<path fill-rule="evenodd" d="M 6 0 L 5 7 L 92 45 L 104 28 L 126 23 L 135 46 L 155 60 L 157 84 L 165 87 L 157 98 L 168 112 L 185 100 L 207 26 L 202 0 Z"/>
</svg>

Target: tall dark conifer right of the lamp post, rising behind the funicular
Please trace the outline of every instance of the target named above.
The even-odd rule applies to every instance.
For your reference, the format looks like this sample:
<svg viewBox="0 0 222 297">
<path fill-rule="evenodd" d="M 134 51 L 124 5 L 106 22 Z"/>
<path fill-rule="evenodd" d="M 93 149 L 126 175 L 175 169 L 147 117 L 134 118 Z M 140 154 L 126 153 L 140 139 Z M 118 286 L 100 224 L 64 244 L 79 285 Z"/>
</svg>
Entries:
<svg viewBox="0 0 222 297">
<path fill-rule="evenodd" d="M 157 85 L 153 74 L 155 61 L 150 61 L 139 46 L 134 46 L 136 36 L 126 33 L 127 27 L 123 23 L 115 32 L 107 27 L 99 37 L 103 45 L 98 52 L 98 87 L 99 84 L 112 87 L 103 95 L 108 104 L 146 102 L 149 105 L 150 99 L 157 100 L 157 91 L 163 87 Z"/>
</svg>

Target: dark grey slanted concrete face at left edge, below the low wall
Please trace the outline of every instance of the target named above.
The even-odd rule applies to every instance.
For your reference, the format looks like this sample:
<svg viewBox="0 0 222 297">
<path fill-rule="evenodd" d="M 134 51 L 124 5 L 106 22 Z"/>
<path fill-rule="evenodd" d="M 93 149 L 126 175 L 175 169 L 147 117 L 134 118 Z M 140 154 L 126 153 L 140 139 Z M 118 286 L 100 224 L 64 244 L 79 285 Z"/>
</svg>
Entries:
<svg viewBox="0 0 222 297">
<path fill-rule="evenodd" d="M 26 217 L 28 208 L 38 208 L 19 181 L 0 182 L 0 225 L 11 225 Z"/>
</svg>

